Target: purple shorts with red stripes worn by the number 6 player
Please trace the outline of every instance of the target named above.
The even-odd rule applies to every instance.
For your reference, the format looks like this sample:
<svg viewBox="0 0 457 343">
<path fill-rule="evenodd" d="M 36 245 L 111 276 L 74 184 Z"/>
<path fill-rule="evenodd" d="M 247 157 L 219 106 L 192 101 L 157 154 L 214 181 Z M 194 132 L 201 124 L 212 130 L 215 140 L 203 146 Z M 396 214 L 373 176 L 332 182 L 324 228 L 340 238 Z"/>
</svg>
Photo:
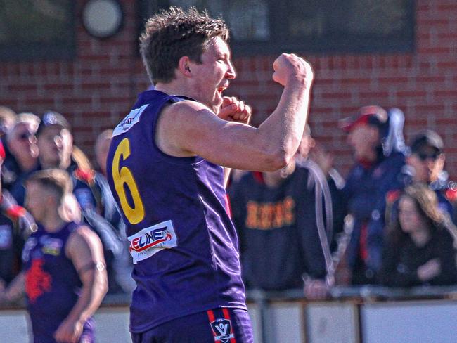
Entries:
<svg viewBox="0 0 457 343">
<path fill-rule="evenodd" d="M 176 318 L 141 333 L 133 343 L 252 343 L 249 313 L 241 309 L 212 309 Z"/>
</svg>

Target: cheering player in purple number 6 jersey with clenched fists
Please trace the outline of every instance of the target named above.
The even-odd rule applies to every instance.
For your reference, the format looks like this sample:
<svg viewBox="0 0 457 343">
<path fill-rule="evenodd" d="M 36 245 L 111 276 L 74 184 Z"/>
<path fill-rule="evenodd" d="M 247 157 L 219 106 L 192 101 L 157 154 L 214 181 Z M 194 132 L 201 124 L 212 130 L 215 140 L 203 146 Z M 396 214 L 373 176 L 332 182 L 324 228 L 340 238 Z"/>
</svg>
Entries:
<svg viewBox="0 0 457 343">
<path fill-rule="evenodd" d="M 292 160 L 313 72 L 279 56 L 278 107 L 251 127 L 250 107 L 223 95 L 236 77 L 227 41 L 225 22 L 195 8 L 162 11 L 141 35 L 155 89 L 115 128 L 107 162 L 134 259 L 135 343 L 252 342 L 224 167 L 273 171 Z"/>
</svg>

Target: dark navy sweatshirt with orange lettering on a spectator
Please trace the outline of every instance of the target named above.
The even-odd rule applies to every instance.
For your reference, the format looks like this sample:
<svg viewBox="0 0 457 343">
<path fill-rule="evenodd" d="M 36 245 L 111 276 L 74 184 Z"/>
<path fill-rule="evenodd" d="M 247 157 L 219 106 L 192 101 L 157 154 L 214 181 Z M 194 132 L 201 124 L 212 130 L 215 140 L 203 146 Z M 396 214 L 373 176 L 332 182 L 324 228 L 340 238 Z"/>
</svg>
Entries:
<svg viewBox="0 0 457 343">
<path fill-rule="evenodd" d="M 308 178 L 308 169 L 297 166 L 276 187 L 267 187 L 262 174 L 250 173 L 229 189 L 247 287 L 292 289 L 302 287 L 304 273 L 326 275 Z"/>
</svg>

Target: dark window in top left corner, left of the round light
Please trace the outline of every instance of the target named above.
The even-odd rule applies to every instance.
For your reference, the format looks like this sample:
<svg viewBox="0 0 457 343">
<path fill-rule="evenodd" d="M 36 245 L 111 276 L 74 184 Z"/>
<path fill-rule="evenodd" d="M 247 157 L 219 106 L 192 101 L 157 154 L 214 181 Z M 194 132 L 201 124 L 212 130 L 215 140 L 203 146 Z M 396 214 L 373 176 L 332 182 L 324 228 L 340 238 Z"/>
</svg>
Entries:
<svg viewBox="0 0 457 343">
<path fill-rule="evenodd" d="M 75 56 L 75 1 L 0 0 L 0 59 Z"/>
</svg>

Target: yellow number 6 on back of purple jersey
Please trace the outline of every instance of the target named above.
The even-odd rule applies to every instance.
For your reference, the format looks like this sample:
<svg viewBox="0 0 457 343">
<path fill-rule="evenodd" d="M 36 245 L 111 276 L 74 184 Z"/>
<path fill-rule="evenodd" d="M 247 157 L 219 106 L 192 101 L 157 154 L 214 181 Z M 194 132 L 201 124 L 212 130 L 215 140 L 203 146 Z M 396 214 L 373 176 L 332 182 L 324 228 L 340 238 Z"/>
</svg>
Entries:
<svg viewBox="0 0 457 343">
<path fill-rule="evenodd" d="M 140 198 L 138 187 L 136 186 L 134 176 L 131 174 L 130 169 L 125 166 L 119 169 L 121 157 L 122 160 L 127 160 L 129 156 L 130 142 L 128 138 L 124 138 L 121 143 L 117 145 L 115 155 L 112 158 L 112 180 L 115 184 L 117 195 L 119 196 L 122 212 L 124 212 L 124 215 L 130 224 L 138 224 L 144 218 L 143 201 Z M 134 207 L 131 207 L 127 201 L 124 185 L 129 188 Z"/>
</svg>

